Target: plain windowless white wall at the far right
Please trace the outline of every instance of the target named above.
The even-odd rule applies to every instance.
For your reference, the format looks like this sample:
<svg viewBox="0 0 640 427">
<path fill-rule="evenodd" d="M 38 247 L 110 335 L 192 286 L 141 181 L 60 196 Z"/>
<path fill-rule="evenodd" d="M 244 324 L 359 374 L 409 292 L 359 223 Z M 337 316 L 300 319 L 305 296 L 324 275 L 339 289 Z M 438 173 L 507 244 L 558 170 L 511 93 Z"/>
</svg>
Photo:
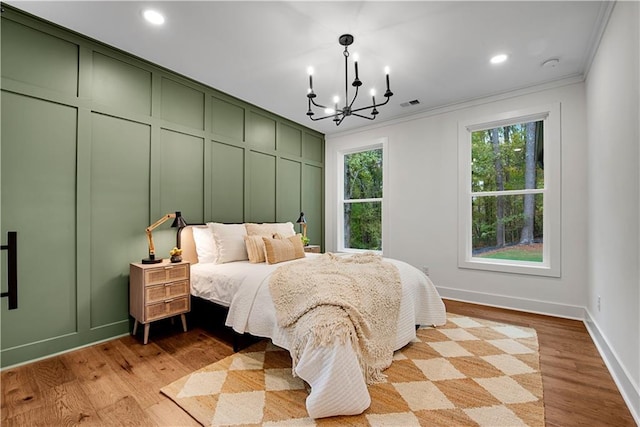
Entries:
<svg viewBox="0 0 640 427">
<path fill-rule="evenodd" d="M 615 5 L 586 80 L 586 303 L 592 334 L 640 423 L 639 21 L 637 2 Z"/>
</svg>

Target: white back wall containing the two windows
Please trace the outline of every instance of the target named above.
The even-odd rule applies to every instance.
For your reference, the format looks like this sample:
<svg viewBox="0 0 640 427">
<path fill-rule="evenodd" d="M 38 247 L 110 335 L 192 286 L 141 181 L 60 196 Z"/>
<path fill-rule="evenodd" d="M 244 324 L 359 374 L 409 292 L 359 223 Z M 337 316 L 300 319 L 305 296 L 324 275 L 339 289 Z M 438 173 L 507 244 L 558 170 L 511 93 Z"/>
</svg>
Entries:
<svg viewBox="0 0 640 427">
<path fill-rule="evenodd" d="M 561 277 L 458 268 L 458 122 L 561 104 Z M 381 111 L 380 115 L 384 114 Z M 335 250 L 337 152 L 388 137 L 385 256 L 428 266 L 441 295 L 582 318 L 587 304 L 587 152 L 584 84 L 486 99 L 474 105 L 327 137 L 326 246 Z M 353 118 L 351 120 L 357 120 Z"/>
</svg>

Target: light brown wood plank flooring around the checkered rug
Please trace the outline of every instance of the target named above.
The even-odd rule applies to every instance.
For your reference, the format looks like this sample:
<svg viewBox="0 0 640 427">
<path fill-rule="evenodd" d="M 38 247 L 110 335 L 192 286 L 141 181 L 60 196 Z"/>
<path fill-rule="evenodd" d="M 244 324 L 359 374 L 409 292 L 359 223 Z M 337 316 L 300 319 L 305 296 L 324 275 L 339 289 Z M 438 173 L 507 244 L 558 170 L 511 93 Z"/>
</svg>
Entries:
<svg viewBox="0 0 640 427">
<path fill-rule="evenodd" d="M 582 322 L 445 303 L 451 313 L 536 329 L 548 427 L 636 425 Z M 232 354 L 231 334 L 213 326 L 221 316 L 186 333 L 180 322 L 154 323 L 147 345 L 127 336 L 5 369 L 0 424 L 198 425 L 158 390 Z"/>
</svg>

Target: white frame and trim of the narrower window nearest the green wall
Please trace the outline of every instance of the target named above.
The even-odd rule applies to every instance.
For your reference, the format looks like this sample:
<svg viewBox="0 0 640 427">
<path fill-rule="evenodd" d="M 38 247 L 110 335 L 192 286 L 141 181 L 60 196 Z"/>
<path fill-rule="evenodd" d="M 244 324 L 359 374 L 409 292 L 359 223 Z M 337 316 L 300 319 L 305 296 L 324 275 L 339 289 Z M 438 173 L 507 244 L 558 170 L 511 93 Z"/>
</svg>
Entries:
<svg viewBox="0 0 640 427">
<path fill-rule="evenodd" d="M 365 145 L 358 145 L 357 147 L 350 147 L 349 149 L 338 151 L 337 156 L 337 171 L 338 171 L 338 179 L 337 181 L 337 212 L 336 218 L 337 227 L 336 227 L 336 237 L 338 252 L 349 252 L 349 253 L 362 253 L 362 252 L 374 252 L 378 254 L 383 254 L 385 241 L 387 240 L 387 226 L 385 218 L 387 217 L 387 204 L 385 203 L 385 189 L 389 188 L 388 185 L 388 176 L 389 176 L 389 167 L 388 167 L 388 139 L 386 137 L 379 138 L 373 142 L 369 142 Z M 359 153 L 361 151 L 368 150 L 376 150 L 382 148 L 382 198 L 375 199 L 359 199 L 358 202 L 381 202 L 382 203 L 382 250 L 380 251 L 372 251 L 368 249 L 352 249 L 344 247 L 344 204 L 352 203 L 348 200 L 344 199 L 344 156 L 347 154 Z"/>
</svg>

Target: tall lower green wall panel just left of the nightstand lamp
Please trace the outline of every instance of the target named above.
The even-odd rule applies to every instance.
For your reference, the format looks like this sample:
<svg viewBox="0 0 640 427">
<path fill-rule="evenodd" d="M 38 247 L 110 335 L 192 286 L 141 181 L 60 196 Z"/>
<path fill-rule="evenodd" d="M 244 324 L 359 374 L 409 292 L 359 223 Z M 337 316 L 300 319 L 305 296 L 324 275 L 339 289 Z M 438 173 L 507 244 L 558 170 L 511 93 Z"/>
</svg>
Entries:
<svg viewBox="0 0 640 427">
<path fill-rule="evenodd" d="M 146 258 L 150 128 L 93 114 L 91 327 L 128 318 L 129 263 Z"/>
</svg>

